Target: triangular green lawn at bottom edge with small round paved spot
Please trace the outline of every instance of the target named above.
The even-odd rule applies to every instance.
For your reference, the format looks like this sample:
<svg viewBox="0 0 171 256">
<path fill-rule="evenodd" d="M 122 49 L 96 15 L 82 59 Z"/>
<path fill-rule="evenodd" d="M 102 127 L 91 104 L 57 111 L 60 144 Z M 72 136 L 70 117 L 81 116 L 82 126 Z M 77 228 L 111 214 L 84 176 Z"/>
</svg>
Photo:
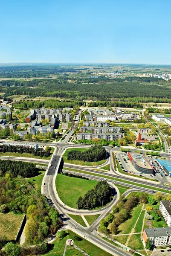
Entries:
<svg viewBox="0 0 171 256">
<path fill-rule="evenodd" d="M 101 248 L 97 247 L 96 245 L 92 244 L 91 242 L 87 241 L 84 238 L 81 241 L 76 241 L 74 237 L 77 235 L 71 230 L 66 230 L 66 232 L 68 235 L 61 240 L 56 239 L 52 243 L 53 249 L 50 252 L 43 254 L 42 256 L 63 256 L 65 242 L 67 239 L 73 239 L 74 244 L 78 246 L 81 250 L 84 250 L 84 252 L 86 252 L 90 256 L 111 256 L 110 253 L 105 252 L 104 250 L 102 250 Z M 65 256 L 75 255 L 81 256 L 83 254 L 80 253 L 78 250 L 73 249 L 73 247 L 67 247 L 67 252 Z"/>
</svg>

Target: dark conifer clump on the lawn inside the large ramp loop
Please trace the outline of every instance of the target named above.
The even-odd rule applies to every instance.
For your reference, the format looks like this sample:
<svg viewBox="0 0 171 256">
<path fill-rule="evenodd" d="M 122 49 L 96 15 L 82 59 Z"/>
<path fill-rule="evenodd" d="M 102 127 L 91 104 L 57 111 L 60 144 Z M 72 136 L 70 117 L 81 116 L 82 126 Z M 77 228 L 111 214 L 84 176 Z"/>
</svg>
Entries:
<svg viewBox="0 0 171 256">
<path fill-rule="evenodd" d="M 110 202 L 111 188 L 106 180 L 101 180 L 84 197 L 77 200 L 78 209 L 92 209 Z"/>
</svg>

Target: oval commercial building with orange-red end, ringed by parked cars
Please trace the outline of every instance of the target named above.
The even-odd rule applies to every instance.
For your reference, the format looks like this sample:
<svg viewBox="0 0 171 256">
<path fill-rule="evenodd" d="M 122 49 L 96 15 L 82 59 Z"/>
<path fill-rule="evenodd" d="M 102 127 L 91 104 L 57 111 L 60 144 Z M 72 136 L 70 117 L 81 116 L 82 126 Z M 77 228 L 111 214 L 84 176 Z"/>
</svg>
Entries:
<svg viewBox="0 0 171 256">
<path fill-rule="evenodd" d="M 153 168 L 148 163 L 148 161 L 141 154 L 138 153 L 128 153 L 130 162 L 133 164 L 133 167 L 138 171 L 145 174 L 153 174 Z"/>
</svg>

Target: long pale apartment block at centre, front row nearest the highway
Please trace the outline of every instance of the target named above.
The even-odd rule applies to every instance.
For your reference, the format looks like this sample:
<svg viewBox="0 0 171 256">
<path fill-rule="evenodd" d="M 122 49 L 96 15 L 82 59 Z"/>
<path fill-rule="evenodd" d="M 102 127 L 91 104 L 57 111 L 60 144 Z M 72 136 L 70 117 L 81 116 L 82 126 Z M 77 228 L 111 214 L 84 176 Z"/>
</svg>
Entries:
<svg viewBox="0 0 171 256">
<path fill-rule="evenodd" d="M 122 133 L 109 133 L 109 134 L 92 134 L 92 133 L 78 133 L 77 140 L 119 140 L 123 137 Z"/>
</svg>

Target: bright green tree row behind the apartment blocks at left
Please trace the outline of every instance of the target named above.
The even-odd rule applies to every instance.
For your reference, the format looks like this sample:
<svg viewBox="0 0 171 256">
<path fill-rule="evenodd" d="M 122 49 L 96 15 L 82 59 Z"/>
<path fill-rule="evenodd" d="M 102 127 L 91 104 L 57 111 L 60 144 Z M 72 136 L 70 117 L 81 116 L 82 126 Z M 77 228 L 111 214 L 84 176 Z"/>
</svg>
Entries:
<svg viewBox="0 0 171 256">
<path fill-rule="evenodd" d="M 28 100 L 28 101 L 20 101 L 20 102 L 13 102 L 14 108 L 78 108 L 78 106 L 82 106 L 85 104 L 84 101 L 79 100 L 56 100 L 56 99 L 49 99 L 49 100 Z"/>
</svg>

